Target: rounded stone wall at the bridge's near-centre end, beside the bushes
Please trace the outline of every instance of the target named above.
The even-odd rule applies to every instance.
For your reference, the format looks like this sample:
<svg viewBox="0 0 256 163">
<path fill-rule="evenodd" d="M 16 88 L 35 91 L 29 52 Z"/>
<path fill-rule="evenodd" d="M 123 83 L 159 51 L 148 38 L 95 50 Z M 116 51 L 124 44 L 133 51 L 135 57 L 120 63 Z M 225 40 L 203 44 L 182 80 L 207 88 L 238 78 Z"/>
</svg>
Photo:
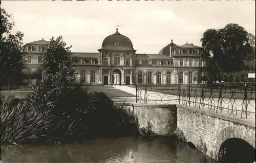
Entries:
<svg viewBox="0 0 256 163">
<path fill-rule="evenodd" d="M 124 106 L 124 109 L 137 116 L 139 128 L 146 128 L 150 122 L 152 131 L 157 135 L 172 134 L 177 127 L 176 105 L 132 104 Z"/>
</svg>

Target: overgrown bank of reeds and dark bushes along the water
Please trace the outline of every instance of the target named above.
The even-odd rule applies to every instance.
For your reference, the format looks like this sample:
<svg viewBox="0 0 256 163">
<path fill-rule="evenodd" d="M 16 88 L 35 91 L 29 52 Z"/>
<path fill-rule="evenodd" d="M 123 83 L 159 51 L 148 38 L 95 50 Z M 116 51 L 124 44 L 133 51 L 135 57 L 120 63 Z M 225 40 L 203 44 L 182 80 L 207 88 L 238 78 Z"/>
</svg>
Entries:
<svg viewBox="0 0 256 163">
<path fill-rule="evenodd" d="M 103 92 L 73 90 L 53 103 L 1 97 L 1 144 L 70 143 L 138 135 L 137 120 Z M 75 93 L 76 91 L 76 93 Z"/>
</svg>

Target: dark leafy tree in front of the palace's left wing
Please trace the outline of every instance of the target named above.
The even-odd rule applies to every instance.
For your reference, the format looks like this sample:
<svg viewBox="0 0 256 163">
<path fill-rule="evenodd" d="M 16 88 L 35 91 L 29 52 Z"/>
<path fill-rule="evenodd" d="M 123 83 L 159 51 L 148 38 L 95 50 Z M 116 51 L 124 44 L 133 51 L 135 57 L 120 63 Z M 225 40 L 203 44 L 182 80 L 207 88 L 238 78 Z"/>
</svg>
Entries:
<svg viewBox="0 0 256 163">
<path fill-rule="evenodd" d="M 66 47 L 62 36 L 52 37 L 43 54 L 42 72 L 44 73 L 39 84 L 32 84 L 33 94 L 40 102 L 58 101 L 63 89 L 73 86 L 71 46 Z"/>
</svg>

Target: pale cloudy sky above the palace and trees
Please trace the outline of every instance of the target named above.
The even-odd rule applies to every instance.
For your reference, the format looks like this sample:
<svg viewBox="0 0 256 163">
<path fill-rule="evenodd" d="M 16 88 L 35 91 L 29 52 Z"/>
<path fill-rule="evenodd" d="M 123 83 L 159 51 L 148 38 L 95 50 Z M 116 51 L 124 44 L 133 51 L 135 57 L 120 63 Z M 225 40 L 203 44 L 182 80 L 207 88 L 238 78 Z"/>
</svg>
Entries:
<svg viewBox="0 0 256 163">
<path fill-rule="evenodd" d="M 157 54 L 171 39 L 201 46 L 203 32 L 236 23 L 255 35 L 255 1 L 2 1 L 24 43 L 63 36 L 72 52 L 98 52 L 119 32 L 137 53 Z"/>
</svg>

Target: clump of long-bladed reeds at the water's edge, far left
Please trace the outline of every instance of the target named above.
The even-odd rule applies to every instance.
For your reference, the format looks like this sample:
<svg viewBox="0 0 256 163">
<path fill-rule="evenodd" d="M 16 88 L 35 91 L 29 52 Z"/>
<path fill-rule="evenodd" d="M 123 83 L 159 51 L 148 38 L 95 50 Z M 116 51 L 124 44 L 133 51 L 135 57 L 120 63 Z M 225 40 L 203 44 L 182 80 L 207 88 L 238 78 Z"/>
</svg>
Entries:
<svg viewBox="0 0 256 163">
<path fill-rule="evenodd" d="M 1 106 L 1 144 L 32 143 L 51 128 L 51 115 L 39 111 L 32 101 Z"/>
</svg>

